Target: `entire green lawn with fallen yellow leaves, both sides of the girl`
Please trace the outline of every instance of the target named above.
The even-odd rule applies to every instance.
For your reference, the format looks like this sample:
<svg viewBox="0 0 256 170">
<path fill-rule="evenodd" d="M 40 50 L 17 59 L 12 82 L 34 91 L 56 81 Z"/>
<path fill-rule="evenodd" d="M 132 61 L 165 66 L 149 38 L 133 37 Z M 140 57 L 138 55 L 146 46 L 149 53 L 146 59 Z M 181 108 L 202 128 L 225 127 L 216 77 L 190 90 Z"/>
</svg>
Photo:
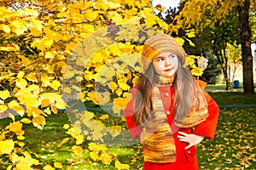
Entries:
<svg viewBox="0 0 256 170">
<path fill-rule="evenodd" d="M 209 92 L 218 105 L 256 105 L 255 94 L 240 92 Z M 198 145 L 198 160 L 201 169 L 255 169 L 255 127 L 256 108 L 221 108 L 215 139 L 205 139 Z M 61 162 L 63 169 L 115 169 L 114 163 L 106 166 L 92 161 L 89 150 L 90 141 L 82 144 L 83 156 L 73 156 L 70 139 L 61 144 L 61 140 L 70 137 L 63 128 L 68 123 L 65 113 L 50 115 L 43 130 L 32 125 L 24 127 L 26 131 L 26 147 L 32 155 L 53 166 L 55 161 Z M 0 120 L 0 127 L 9 124 L 9 119 Z M 143 156 L 140 144 L 126 147 L 108 147 L 108 152 L 115 154 L 121 163 L 127 163 L 131 169 L 142 169 Z M 0 156 L 0 169 L 7 167 L 6 158 Z M 40 169 L 38 165 L 38 169 Z"/>
</svg>

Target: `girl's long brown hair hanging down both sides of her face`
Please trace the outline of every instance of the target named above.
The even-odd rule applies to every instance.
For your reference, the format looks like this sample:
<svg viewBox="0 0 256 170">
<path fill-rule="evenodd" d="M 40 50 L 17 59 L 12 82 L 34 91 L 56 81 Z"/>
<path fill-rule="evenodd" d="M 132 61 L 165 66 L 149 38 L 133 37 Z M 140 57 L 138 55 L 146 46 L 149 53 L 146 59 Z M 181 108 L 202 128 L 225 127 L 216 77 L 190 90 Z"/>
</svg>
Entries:
<svg viewBox="0 0 256 170">
<path fill-rule="evenodd" d="M 178 62 L 176 76 L 173 81 L 174 105 L 172 109 L 177 118 L 182 118 L 188 114 L 191 103 L 196 98 L 195 91 L 198 91 L 195 88 L 199 88 L 199 86 L 189 68 L 183 67 L 179 59 Z M 151 88 L 155 75 L 154 65 L 151 62 L 148 70 L 140 77 L 137 88 L 134 110 L 134 119 L 137 125 L 143 124 L 152 116 Z"/>
</svg>

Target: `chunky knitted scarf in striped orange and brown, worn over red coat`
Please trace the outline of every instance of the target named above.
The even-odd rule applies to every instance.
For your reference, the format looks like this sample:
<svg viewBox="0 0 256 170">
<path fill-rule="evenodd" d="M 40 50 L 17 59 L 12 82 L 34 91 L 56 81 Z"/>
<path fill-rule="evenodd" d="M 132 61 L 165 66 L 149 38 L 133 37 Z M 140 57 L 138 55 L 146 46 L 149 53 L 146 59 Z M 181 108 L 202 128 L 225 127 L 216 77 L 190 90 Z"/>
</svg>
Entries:
<svg viewBox="0 0 256 170">
<path fill-rule="evenodd" d="M 174 77 L 158 77 L 159 81 L 152 88 L 151 101 L 153 107 L 152 117 L 149 117 L 144 124 L 141 142 L 143 143 L 144 161 L 156 163 L 168 163 L 176 161 L 176 147 L 172 137 L 172 130 L 167 121 L 166 111 L 160 99 L 158 86 L 172 86 Z M 196 88 L 197 89 L 197 88 Z M 195 91 L 200 102 L 193 103 L 189 113 L 183 119 L 175 118 L 177 127 L 194 127 L 203 122 L 207 116 L 207 102 L 203 94 Z"/>
</svg>

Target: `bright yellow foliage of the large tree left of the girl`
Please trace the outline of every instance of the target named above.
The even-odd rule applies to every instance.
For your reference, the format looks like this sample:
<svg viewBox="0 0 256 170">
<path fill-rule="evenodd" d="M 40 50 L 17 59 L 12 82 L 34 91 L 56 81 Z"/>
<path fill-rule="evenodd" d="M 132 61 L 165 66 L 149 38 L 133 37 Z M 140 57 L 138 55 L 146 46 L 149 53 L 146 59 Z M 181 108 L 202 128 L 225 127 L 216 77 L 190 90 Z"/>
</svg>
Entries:
<svg viewBox="0 0 256 170">
<path fill-rule="evenodd" d="M 72 113 L 73 126 L 65 128 L 76 139 L 71 148 L 74 156 L 85 150 L 80 144 L 92 141 L 88 149 L 93 161 L 128 169 L 129 165 L 108 154 L 106 145 L 94 142 L 104 143 L 106 136 L 115 138 L 122 132 L 121 110 L 141 71 L 137 56 L 143 42 L 169 30 L 154 15 L 149 1 L 1 1 L 0 113 L 8 114 L 12 122 L 1 127 L 0 156 L 9 162 L 8 169 L 61 167 L 58 162 L 49 165 L 38 160 L 22 142 L 25 124 L 43 129 L 45 117 L 61 110 Z M 187 41 L 195 35 L 186 33 Z M 177 41 L 183 44 L 183 38 Z M 192 73 L 201 75 L 195 56 L 188 59 Z M 108 113 L 80 111 L 86 101 L 110 103 L 113 120 Z"/>
</svg>

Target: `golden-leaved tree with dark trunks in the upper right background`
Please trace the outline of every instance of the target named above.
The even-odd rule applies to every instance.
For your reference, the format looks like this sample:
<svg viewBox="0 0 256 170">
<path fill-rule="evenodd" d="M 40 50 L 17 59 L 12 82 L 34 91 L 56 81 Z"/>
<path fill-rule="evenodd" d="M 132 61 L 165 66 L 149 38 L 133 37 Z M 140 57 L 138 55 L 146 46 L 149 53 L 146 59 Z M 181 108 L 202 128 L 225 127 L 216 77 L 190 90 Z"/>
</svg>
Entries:
<svg viewBox="0 0 256 170">
<path fill-rule="evenodd" d="M 214 0 L 214 1 L 201 1 L 201 0 L 191 0 L 191 1 L 182 1 L 184 4 L 183 10 L 175 17 L 177 25 L 173 24 L 171 27 L 173 29 L 185 27 L 193 27 L 196 32 L 203 31 L 207 27 L 214 28 L 216 24 L 222 26 L 226 22 L 227 16 L 232 14 L 232 11 L 236 11 L 234 16 L 239 16 L 239 37 L 241 43 L 241 55 L 243 59 L 243 83 L 244 83 L 244 92 L 253 93 L 253 58 L 251 52 L 251 43 L 252 37 L 251 28 L 253 27 L 253 22 L 255 20 L 255 1 L 253 0 L 244 0 L 244 1 L 231 1 L 231 0 Z M 253 18 L 251 20 L 251 25 L 249 26 L 249 14 Z M 254 30 L 254 29 L 253 29 Z M 215 32 L 216 33 L 216 32 Z M 228 33 L 225 32 L 225 33 Z M 227 36 L 218 37 L 218 41 Z M 230 37 L 230 36 L 229 36 Z M 218 44 L 218 43 L 217 43 Z M 225 44 L 221 45 L 225 47 Z M 225 81 L 227 83 L 227 89 L 230 88 L 230 80 L 226 74 L 227 65 L 224 60 L 226 59 L 224 50 L 221 48 L 215 48 L 215 54 L 218 54 L 219 61 L 222 65 L 224 71 Z M 221 54 L 222 53 L 222 54 Z M 224 62 L 222 62 L 222 60 Z"/>
</svg>

